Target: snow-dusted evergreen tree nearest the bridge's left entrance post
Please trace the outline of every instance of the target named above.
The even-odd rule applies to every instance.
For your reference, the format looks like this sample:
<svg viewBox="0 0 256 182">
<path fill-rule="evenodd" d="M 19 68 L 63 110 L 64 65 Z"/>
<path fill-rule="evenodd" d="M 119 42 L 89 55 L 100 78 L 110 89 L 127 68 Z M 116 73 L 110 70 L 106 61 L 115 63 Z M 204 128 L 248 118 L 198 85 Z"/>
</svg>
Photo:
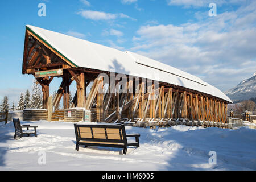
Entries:
<svg viewBox="0 0 256 182">
<path fill-rule="evenodd" d="M 32 96 L 30 100 L 30 107 L 35 109 L 42 109 L 43 108 L 43 98 L 42 92 L 36 81 L 34 81 L 34 85 L 32 88 Z"/>
</svg>

